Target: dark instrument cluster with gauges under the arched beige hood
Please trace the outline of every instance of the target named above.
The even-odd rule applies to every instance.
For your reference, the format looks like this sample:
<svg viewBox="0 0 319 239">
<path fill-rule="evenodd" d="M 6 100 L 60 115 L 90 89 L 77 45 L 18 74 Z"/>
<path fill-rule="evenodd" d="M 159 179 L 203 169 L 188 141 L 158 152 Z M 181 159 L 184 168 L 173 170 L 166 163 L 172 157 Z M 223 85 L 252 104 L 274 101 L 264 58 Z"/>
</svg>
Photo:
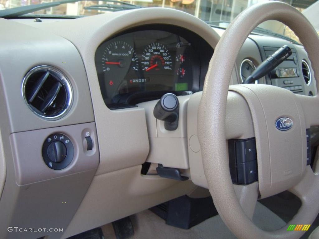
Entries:
<svg viewBox="0 0 319 239">
<path fill-rule="evenodd" d="M 119 109 L 168 92 L 197 92 L 212 52 L 198 35 L 169 25 L 144 26 L 111 37 L 95 53 L 104 102 Z"/>
</svg>

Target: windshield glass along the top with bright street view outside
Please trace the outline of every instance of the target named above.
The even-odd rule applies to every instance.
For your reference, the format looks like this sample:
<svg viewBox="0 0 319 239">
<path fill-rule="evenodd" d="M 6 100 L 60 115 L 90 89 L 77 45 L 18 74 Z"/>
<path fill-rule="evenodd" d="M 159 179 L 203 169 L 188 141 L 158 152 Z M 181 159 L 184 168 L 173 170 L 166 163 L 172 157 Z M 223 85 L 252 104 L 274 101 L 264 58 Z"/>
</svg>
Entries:
<svg viewBox="0 0 319 239">
<path fill-rule="evenodd" d="M 229 22 L 231 22 L 241 11 L 244 11 L 246 8 L 253 4 L 263 1 L 265 0 L 75 0 L 74 2 L 70 1 L 68 3 L 62 3 L 60 5 L 56 4 L 56 6 L 48 6 L 48 8 L 45 9 L 37 9 L 38 11 L 28 11 L 29 13 L 23 14 L 33 16 L 43 16 L 43 14 L 45 14 L 48 16 L 50 15 L 56 17 L 79 17 L 96 15 L 112 11 L 123 11 L 134 8 L 165 7 L 187 12 L 189 14 L 194 15 L 197 18 L 202 19 L 210 25 L 226 28 Z M 63 1 L 0 0 L 0 10 L 35 4 L 52 4 L 54 2 L 61 3 Z M 292 6 L 296 7 L 299 11 L 304 11 L 307 8 L 309 9 L 310 5 L 317 5 L 316 9 L 318 9 L 319 5 L 315 3 L 316 1 L 313 0 L 284 0 L 283 2 L 291 4 Z M 317 22 L 315 24 L 317 24 Z M 255 32 L 264 35 L 286 37 L 287 39 L 290 38 L 296 42 L 299 42 L 298 38 L 288 27 L 277 21 L 264 22 L 263 24 L 259 25 L 258 28 L 255 29 Z"/>
</svg>

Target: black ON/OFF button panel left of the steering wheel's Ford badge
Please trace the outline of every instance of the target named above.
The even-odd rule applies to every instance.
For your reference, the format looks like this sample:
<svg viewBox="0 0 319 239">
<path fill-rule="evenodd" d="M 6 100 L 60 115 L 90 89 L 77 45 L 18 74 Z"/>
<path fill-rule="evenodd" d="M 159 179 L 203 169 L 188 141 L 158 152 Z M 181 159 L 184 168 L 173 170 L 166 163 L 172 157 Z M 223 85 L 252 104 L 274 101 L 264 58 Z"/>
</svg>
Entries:
<svg viewBox="0 0 319 239">
<path fill-rule="evenodd" d="M 257 181 L 255 138 L 228 140 L 229 170 L 234 184 Z"/>
</svg>

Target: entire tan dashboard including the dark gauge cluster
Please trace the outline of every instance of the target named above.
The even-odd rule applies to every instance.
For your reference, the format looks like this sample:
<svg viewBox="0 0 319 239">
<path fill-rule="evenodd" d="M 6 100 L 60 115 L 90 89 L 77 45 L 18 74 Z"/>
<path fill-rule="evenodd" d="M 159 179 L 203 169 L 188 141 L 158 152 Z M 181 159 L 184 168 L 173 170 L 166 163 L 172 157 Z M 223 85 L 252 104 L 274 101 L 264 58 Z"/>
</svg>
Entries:
<svg viewBox="0 0 319 239">
<path fill-rule="evenodd" d="M 189 118 L 187 104 L 203 90 L 223 29 L 164 8 L 33 20 L 0 18 L 0 238 L 68 238 L 193 192 L 195 185 L 207 187 L 199 143 L 193 136 L 197 124 L 187 124 L 196 122 L 197 113 Z M 241 83 L 241 77 L 285 44 L 278 38 L 250 35 L 238 54 L 231 84 Z M 290 46 L 297 61 L 288 59 L 280 68 L 296 69 L 298 77 L 270 75 L 259 83 L 316 95 L 307 53 L 302 46 Z M 49 67 L 50 74 L 34 72 L 39 66 Z M 48 81 L 41 84 L 45 77 Z M 22 94 L 29 89 L 22 87 L 24 78 L 33 89 L 43 89 L 34 91 L 40 92 L 40 98 L 45 93 L 52 99 L 44 99 L 45 106 L 57 108 L 57 100 L 65 102 L 56 93 L 66 89 L 71 100 L 60 104 L 61 117 L 50 118 L 48 111 L 39 117 L 28 107 Z M 189 95 L 190 91 L 198 93 Z M 181 121 L 170 132 L 153 117 L 157 99 L 168 92 L 180 100 Z M 54 170 L 50 162 L 48 166 L 42 156 L 44 142 L 54 143 L 51 140 L 58 136 L 57 141 L 71 142 L 74 150 L 62 170 Z M 143 175 L 145 162 L 191 169 L 192 181 Z M 12 225 L 48 228 L 48 215 L 49 226 L 64 228 L 63 232 L 18 235 L 7 230 Z"/>
</svg>

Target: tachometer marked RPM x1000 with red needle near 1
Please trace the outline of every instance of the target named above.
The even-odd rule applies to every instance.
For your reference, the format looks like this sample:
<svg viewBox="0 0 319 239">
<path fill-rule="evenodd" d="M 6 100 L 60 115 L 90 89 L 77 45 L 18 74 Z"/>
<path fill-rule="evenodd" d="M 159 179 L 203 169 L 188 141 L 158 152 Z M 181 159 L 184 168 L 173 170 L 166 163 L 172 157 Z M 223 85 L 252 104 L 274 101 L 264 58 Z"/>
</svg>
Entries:
<svg viewBox="0 0 319 239">
<path fill-rule="evenodd" d="M 106 48 L 102 56 L 103 72 L 118 73 L 133 69 L 138 71 L 139 62 L 133 47 L 125 41 L 113 41 Z"/>
</svg>

